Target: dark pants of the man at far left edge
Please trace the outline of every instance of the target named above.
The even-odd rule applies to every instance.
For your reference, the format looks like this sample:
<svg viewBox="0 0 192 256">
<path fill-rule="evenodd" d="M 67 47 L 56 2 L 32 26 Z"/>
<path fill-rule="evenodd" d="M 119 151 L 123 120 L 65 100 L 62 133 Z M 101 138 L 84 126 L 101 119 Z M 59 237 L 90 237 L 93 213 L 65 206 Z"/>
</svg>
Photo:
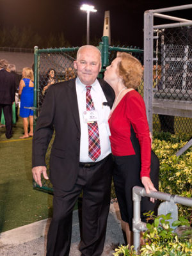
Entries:
<svg viewBox="0 0 192 256">
<path fill-rule="evenodd" d="M 12 104 L 0 104 L 0 120 L 1 112 L 3 109 L 5 127 L 6 127 L 6 138 L 12 137 Z"/>
</svg>

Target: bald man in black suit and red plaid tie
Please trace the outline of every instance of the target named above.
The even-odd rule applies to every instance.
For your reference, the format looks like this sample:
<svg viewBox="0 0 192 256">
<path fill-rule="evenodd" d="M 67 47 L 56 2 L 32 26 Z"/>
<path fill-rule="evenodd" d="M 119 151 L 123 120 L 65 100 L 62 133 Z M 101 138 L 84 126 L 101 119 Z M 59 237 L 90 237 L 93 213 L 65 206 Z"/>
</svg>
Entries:
<svg viewBox="0 0 192 256">
<path fill-rule="evenodd" d="M 72 210 L 82 190 L 82 256 L 101 255 L 106 236 L 113 171 L 108 116 L 115 94 L 109 84 L 97 79 L 101 68 L 97 47 L 80 47 L 74 67 L 76 79 L 49 88 L 33 136 L 33 178 L 42 186 L 41 174 L 49 179 L 45 152 L 55 130 L 50 156 L 53 216 L 47 256 L 69 254 Z"/>
</svg>

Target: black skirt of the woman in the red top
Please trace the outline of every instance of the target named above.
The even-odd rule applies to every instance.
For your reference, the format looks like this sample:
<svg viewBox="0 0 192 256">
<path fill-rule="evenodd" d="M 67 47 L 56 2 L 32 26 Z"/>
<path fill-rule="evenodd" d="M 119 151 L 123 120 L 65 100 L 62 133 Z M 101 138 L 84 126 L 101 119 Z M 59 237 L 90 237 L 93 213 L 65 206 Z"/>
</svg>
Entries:
<svg viewBox="0 0 192 256">
<path fill-rule="evenodd" d="M 134 149 L 136 149 L 134 147 Z M 113 180 L 115 185 L 116 197 L 120 207 L 120 213 L 122 220 L 129 223 L 129 227 L 132 230 L 132 218 L 133 218 L 133 202 L 132 202 L 132 188 L 134 186 L 141 186 L 140 171 L 141 160 L 140 150 L 136 150 L 136 155 L 132 156 L 114 156 L 115 170 L 113 173 Z M 152 180 L 154 187 L 159 188 L 159 159 L 156 154 L 151 152 L 151 170 L 150 179 Z M 157 214 L 158 201 L 155 203 L 150 202 L 150 198 L 141 198 L 141 220 L 146 221 L 146 217 L 143 216 L 144 212 L 154 211 Z"/>
</svg>

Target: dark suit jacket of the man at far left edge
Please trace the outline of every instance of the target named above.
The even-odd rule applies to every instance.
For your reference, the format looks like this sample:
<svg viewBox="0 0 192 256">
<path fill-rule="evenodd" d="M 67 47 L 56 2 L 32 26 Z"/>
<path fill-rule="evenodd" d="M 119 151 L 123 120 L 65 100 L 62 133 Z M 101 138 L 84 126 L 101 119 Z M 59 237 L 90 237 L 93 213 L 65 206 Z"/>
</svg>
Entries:
<svg viewBox="0 0 192 256">
<path fill-rule="evenodd" d="M 15 101 L 15 76 L 0 70 L 0 104 L 12 104 Z"/>
</svg>

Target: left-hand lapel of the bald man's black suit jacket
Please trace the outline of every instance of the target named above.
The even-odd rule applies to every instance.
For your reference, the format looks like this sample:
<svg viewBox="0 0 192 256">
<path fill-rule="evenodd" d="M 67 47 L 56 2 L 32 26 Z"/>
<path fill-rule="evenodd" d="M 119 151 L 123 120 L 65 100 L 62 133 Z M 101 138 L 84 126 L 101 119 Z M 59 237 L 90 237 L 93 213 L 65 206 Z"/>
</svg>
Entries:
<svg viewBox="0 0 192 256">
<path fill-rule="evenodd" d="M 76 122 L 77 129 L 79 131 L 81 131 L 80 120 L 79 120 L 79 109 L 78 109 L 78 103 L 77 103 L 76 78 L 74 78 L 68 82 L 67 92 L 68 92 L 67 99 L 70 104 L 71 113 Z"/>
</svg>

